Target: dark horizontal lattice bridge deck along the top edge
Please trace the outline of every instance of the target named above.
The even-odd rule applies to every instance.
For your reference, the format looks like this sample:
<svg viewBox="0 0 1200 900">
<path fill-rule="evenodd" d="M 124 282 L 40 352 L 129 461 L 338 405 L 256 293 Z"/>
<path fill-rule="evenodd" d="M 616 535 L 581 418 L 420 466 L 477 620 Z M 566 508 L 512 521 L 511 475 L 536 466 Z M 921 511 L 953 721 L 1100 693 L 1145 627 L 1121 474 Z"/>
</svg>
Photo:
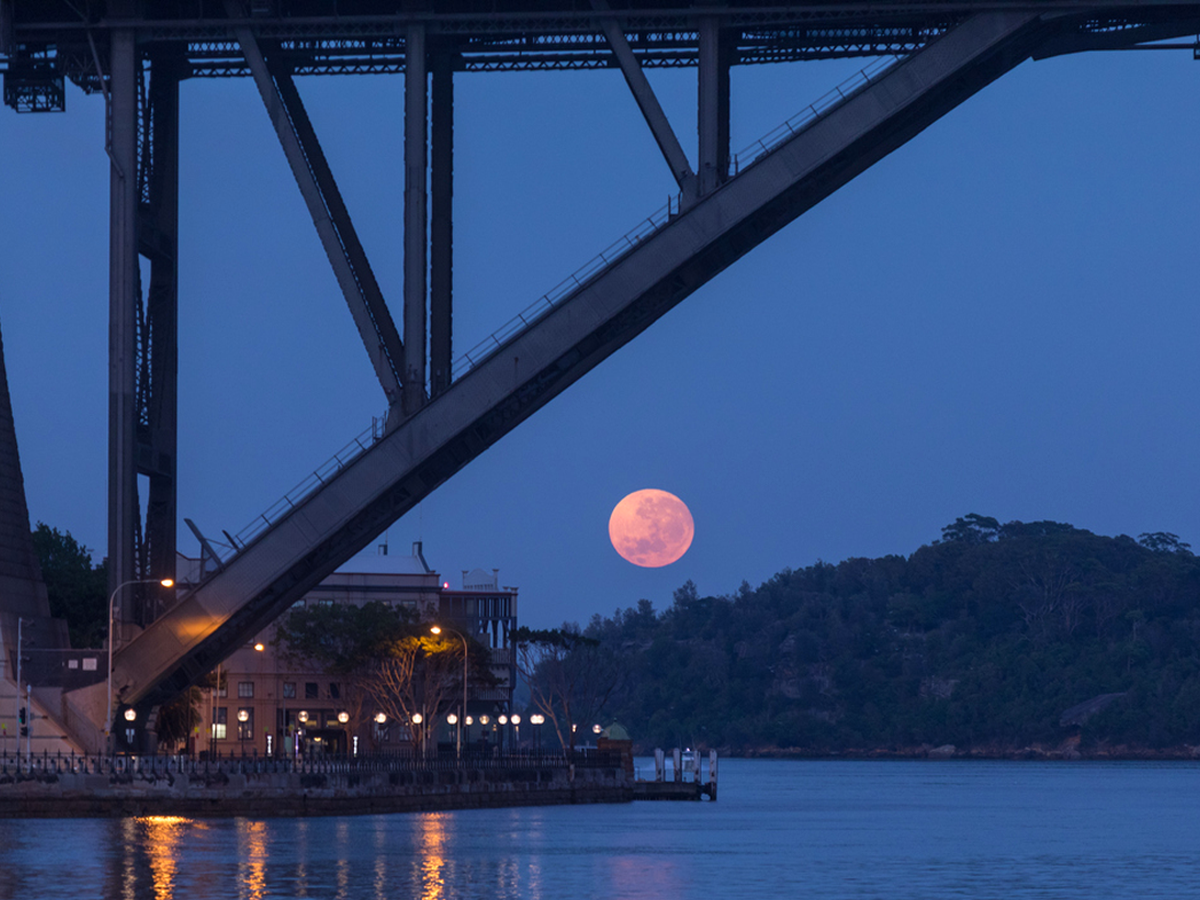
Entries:
<svg viewBox="0 0 1200 900">
<path fill-rule="evenodd" d="M 61 109 L 62 83 L 101 89 L 107 42 L 116 24 L 130 25 L 143 48 L 170 44 L 185 78 L 248 77 L 230 29 L 246 24 L 281 48 L 294 74 L 391 74 L 404 71 L 404 35 L 421 24 L 454 58 L 456 71 L 610 68 L 617 64 L 598 13 L 587 2 L 416 4 L 289 1 L 252 2 L 245 19 L 220 2 L 178 0 L 118 18 L 119 2 L 43 0 L 7 6 L 5 102 L 20 112 Z M 626 35 L 643 68 L 698 65 L 698 17 L 712 17 L 731 36 L 731 65 L 906 54 L 967 16 L 1003 8 L 1037 8 L 1066 19 L 1064 49 L 1133 47 L 1200 30 L 1194 4 L 1076 2 L 754 2 L 630 4 L 607 13 Z M 484 10 L 481 12 L 481 10 Z M 0 13 L 4 14 L 4 13 Z M 1069 46 L 1068 46 L 1069 44 Z M 101 67 L 97 71 L 97 65 Z"/>
</svg>

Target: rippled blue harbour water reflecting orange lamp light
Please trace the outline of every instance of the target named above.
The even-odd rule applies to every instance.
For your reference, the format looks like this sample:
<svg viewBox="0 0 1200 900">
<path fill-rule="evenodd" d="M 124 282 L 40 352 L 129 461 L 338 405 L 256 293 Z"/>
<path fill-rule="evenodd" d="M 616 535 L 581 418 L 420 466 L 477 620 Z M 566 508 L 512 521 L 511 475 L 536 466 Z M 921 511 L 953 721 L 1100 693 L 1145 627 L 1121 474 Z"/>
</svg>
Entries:
<svg viewBox="0 0 1200 900">
<path fill-rule="evenodd" d="M 1200 884 L 1200 764 L 726 760 L 720 775 L 718 803 L 0 821 L 0 898 L 1175 900 Z"/>
</svg>

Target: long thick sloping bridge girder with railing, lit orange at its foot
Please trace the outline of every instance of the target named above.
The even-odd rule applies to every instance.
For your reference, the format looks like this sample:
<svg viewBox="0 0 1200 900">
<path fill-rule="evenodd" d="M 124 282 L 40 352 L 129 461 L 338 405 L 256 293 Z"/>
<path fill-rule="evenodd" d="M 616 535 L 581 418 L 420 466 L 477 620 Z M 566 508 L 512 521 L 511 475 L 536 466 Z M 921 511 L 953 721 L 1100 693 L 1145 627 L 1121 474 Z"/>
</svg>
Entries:
<svg viewBox="0 0 1200 900">
<path fill-rule="evenodd" d="M 149 712 L 194 683 L 691 292 L 1030 58 L 1051 32 L 1027 11 L 973 17 L 676 216 L 348 463 L 122 648 L 114 661 L 118 697 Z M 84 691 L 68 701 L 80 714 L 102 700 Z"/>
</svg>

